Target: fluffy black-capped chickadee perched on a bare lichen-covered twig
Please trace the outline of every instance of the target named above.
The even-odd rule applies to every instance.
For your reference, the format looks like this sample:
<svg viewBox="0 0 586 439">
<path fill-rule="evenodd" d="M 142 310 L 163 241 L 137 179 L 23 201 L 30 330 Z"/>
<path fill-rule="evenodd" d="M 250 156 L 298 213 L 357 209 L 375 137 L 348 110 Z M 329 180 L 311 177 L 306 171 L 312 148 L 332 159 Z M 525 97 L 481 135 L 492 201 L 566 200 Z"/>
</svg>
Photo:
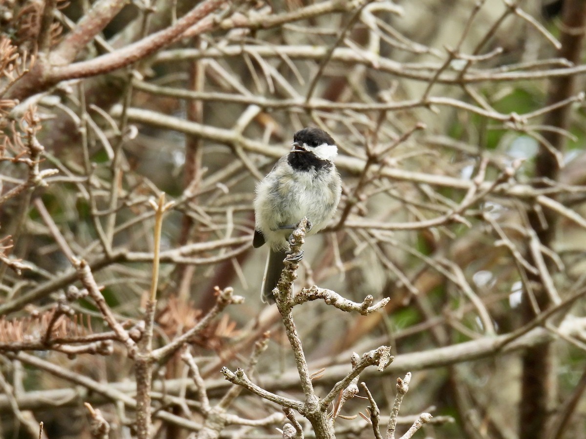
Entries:
<svg viewBox="0 0 586 439">
<path fill-rule="evenodd" d="M 290 250 L 287 238 L 307 217 L 315 234 L 328 224 L 342 194 L 342 180 L 333 159 L 338 148 L 332 137 L 319 128 L 304 128 L 293 136 L 291 151 L 282 156 L 258 183 L 254 199 L 253 246 L 268 242 L 270 251 L 264 270 L 261 300 L 274 303 L 283 259 Z"/>
</svg>

